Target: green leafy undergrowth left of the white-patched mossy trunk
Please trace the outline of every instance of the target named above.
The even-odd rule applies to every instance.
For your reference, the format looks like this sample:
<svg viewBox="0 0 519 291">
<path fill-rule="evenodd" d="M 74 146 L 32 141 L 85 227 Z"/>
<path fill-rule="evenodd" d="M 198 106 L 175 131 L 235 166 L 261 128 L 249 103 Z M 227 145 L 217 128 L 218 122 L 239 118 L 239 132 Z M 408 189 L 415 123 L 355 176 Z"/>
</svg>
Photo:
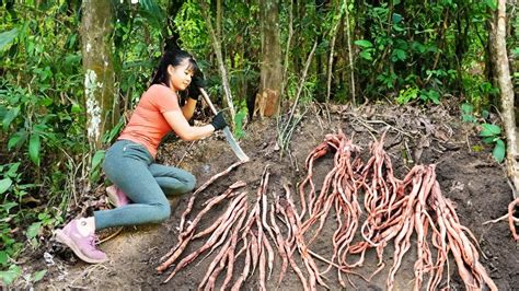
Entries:
<svg viewBox="0 0 519 291">
<path fill-rule="evenodd" d="M 24 245 L 62 223 L 66 165 L 86 144 L 73 4 L 0 7 L 0 277 L 10 283 Z"/>
</svg>

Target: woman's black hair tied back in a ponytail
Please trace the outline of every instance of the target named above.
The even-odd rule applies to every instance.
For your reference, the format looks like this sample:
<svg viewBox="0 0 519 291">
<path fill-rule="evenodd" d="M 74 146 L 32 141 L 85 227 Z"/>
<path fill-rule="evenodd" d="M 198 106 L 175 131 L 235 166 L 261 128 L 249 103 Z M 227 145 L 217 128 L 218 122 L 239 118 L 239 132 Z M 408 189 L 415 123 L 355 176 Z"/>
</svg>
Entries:
<svg viewBox="0 0 519 291">
<path fill-rule="evenodd" d="M 159 62 L 159 67 L 157 68 L 155 73 L 153 74 L 153 80 L 151 81 L 150 85 L 153 84 L 165 84 L 166 86 L 170 85 L 169 74 L 168 74 L 168 67 L 171 65 L 173 67 L 178 66 L 185 59 L 189 60 L 189 70 L 193 72 L 198 72 L 198 65 L 196 60 L 193 58 L 189 53 L 182 50 L 176 42 L 172 38 L 165 40 L 164 54 Z"/>
</svg>

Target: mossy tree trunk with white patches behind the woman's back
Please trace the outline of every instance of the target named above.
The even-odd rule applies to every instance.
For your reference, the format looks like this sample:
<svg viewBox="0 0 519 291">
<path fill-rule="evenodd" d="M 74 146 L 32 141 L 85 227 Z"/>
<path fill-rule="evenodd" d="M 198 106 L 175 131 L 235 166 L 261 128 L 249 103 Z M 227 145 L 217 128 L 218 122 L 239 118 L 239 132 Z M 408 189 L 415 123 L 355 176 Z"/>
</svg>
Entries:
<svg viewBox="0 0 519 291">
<path fill-rule="evenodd" d="M 111 56 L 112 8 L 109 1 L 84 0 L 81 39 L 84 68 L 86 131 L 90 148 L 102 147 L 103 135 L 119 118 L 115 97 L 115 74 Z"/>
</svg>

